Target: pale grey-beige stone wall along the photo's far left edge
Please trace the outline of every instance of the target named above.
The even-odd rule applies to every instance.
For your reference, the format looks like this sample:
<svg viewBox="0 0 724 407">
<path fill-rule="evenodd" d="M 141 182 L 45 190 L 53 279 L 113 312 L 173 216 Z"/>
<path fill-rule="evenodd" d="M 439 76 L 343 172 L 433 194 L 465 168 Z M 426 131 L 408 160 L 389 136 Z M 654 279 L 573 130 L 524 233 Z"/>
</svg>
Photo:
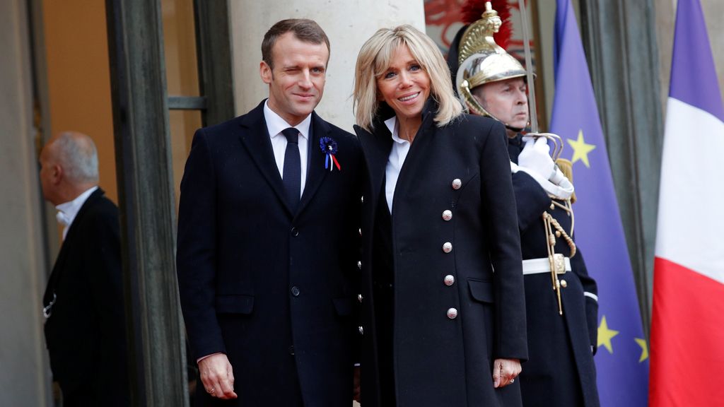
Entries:
<svg viewBox="0 0 724 407">
<path fill-rule="evenodd" d="M 48 406 L 41 200 L 23 0 L 0 1 L 0 406 Z"/>
</svg>

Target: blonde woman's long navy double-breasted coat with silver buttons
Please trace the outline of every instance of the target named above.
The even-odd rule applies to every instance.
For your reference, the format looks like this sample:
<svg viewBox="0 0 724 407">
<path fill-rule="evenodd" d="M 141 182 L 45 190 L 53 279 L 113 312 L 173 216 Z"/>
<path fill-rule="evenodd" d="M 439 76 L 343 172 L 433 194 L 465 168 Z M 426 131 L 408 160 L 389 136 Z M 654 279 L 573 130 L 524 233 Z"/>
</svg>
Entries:
<svg viewBox="0 0 724 407">
<path fill-rule="evenodd" d="M 355 127 L 369 182 L 363 203 L 362 402 L 379 395 L 382 319 L 393 318 L 397 406 L 515 406 L 517 383 L 494 390 L 495 358 L 526 359 L 526 313 L 515 198 L 505 131 L 464 115 L 444 127 L 428 102 L 395 187 L 392 205 L 393 305 L 375 313 L 372 239 L 392 140 L 382 119 L 374 134 Z M 387 113 L 387 114 L 385 114 Z M 460 188 L 452 187 L 459 179 Z M 387 210 L 386 206 L 382 206 Z M 442 218 L 450 210 L 452 219 Z M 452 243 L 445 253 L 443 243 Z M 379 262 L 378 262 L 379 263 Z M 493 272 L 493 269 L 495 272 Z M 455 282 L 445 284 L 445 276 Z M 454 308 L 458 315 L 447 316 Z"/>
</svg>

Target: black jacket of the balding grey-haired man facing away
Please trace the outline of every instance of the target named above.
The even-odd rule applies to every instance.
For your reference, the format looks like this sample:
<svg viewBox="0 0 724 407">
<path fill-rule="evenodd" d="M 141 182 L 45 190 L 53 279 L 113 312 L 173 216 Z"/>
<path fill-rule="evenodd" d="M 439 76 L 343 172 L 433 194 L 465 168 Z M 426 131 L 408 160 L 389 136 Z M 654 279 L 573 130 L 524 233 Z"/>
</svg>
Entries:
<svg viewBox="0 0 724 407">
<path fill-rule="evenodd" d="M 43 306 L 45 335 L 64 406 L 129 406 L 117 207 L 99 188 L 73 220 Z"/>
</svg>

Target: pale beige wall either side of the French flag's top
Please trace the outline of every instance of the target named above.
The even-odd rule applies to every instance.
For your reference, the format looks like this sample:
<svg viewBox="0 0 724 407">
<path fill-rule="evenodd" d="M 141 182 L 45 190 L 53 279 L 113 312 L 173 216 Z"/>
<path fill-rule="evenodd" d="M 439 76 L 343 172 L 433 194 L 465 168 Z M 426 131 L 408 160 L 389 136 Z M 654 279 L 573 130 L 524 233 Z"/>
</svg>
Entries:
<svg viewBox="0 0 724 407">
<path fill-rule="evenodd" d="M 700 0 L 707 22 L 707 32 L 714 54 L 714 64 L 717 68 L 719 90 L 724 98 L 724 1 Z M 654 0 L 656 7 L 656 39 L 659 46 L 659 72 L 661 83 L 661 103 L 666 114 L 666 99 L 669 95 L 669 80 L 671 75 L 671 58 L 674 40 L 674 21 L 676 20 L 675 0 Z M 691 75 L 696 75 L 696 68 L 691 68 Z"/>
</svg>

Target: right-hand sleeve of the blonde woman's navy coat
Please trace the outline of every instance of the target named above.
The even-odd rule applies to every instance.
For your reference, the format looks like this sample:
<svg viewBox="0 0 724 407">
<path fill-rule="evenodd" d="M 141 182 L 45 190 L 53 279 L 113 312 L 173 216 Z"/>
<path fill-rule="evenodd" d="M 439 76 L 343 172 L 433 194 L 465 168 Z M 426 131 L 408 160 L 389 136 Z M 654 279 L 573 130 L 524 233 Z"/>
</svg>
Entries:
<svg viewBox="0 0 724 407">
<path fill-rule="evenodd" d="M 521 238 L 505 127 L 495 122 L 481 148 L 481 202 L 494 269 L 495 358 L 528 358 Z"/>
</svg>

